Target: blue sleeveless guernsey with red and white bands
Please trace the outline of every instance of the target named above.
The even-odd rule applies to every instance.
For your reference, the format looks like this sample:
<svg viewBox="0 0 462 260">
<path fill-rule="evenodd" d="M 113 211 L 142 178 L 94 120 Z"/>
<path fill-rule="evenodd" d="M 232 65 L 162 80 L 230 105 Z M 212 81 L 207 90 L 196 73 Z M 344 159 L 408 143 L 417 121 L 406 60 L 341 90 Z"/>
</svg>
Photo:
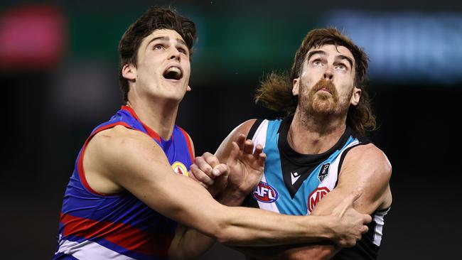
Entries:
<svg viewBox="0 0 462 260">
<path fill-rule="evenodd" d="M 103 195 L 85 179 L 83 155 L 88 141 L 117 125 L 151 136 L 165 152 L 176 173 L 188 175 L 193 151 L 186 131 L 178 126 L 171 139 L 144 125 L 134 111 L 123 106 L 93 131 L 80 150 L 65 190 L 60 215 L 58 248 L 53 259 L 167 259 L 176 222 L 146 206 L 131 193 Z"/>
</svg>

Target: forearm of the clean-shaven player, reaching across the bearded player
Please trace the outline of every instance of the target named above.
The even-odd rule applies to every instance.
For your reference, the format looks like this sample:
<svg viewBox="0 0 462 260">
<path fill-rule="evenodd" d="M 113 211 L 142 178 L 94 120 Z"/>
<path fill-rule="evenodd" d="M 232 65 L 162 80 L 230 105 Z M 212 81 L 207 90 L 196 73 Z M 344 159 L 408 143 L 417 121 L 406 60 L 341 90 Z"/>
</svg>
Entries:
<svg viewBox="0 0 462 260">
<path fill-rule="evenodd" d="M 336 217 L 294 217 L 245 207 L 210 207 L 188 224 L 218 242 L 230 245 L 272 246 L 332 239 Z"/>
</svg>

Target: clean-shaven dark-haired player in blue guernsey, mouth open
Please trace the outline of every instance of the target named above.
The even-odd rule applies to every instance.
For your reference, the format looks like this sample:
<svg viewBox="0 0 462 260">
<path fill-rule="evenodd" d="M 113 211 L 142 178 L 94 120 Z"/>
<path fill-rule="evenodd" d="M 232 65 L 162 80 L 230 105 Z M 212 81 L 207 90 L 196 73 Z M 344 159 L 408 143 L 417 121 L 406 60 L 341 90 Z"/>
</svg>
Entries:
<svg viewBox="0 0 462 260">
<path fill-rule="evenodd" d="M 193 258 L 203 234 L 235 245 L 332 239 L 353 246 L 367 231 L 370 216 L 353 210 L 354 193 L 331 215 L 295 217 L 226 207 L 187 177 L 193 143 L 175 120 L 190 90 L 194 40 L 194 23 L 170 9 L 149 9 L 124 33 L 120 80 L 127 105 L 92 131 L 77 156 L 53 259 Z M 261 175 L 262 146 L 236 140 L 227 165 L 217 163 L 214 172 Z M 176 222 L 199 232 L 180 227 L 170 247 Z"/>
</svg>

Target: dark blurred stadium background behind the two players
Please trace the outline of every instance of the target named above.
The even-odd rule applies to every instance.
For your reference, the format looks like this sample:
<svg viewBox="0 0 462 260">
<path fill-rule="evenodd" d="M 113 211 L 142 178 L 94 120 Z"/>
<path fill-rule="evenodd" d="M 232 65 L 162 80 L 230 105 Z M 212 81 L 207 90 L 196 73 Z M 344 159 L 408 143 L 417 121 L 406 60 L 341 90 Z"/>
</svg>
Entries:
<svg viewBox="0 0 462 260">
<path fill-rule="evenodd" d="M 462 230 L 462 8 L 448 0 L 415 3 L 1 1 L 1 259 L 53 255 L 75 156 L 93 127 L 122 104 L 118 40 L 153 4 L 170 4 L 198 28 L 193 91 L 178 115 L 196 154 L 215 151 L 242 121 L 277 116 L 253 104 L 254 89 L 265 72 L 289 69 L 311 28 L 348 24 L 342 29 L 362 30 L 364 43 L 382 32 L 377 44 L 385 47 L 369 46 L 382 60 L 371 57 L 368 82 L 380 122 L 372 140 L 393 166 L 380 259 L 455 259 Z M 41 37 L 54 38 L 43 47 Z M 15 54 L 18 44 L 25 51 Z M 202 259 L 243 257 L 216 246 Z"/>
</svg>

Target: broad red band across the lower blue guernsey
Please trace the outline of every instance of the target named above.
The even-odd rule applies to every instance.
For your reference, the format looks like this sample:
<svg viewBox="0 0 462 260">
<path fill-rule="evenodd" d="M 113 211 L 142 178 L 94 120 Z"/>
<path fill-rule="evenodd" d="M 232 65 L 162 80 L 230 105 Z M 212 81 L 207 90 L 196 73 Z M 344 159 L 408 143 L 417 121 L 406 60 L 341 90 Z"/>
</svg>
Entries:
<svg viewBox="0 0 462 260">
<path fill-rule="evenodd" d="M 129 224 L 108 221 L 97 222 L 82 217 L 61 214 L 63 236 L 102 238 L 138 254 L 166 256 L 173 237 L 168 234 L 151 234 Z"/>
</svg>

